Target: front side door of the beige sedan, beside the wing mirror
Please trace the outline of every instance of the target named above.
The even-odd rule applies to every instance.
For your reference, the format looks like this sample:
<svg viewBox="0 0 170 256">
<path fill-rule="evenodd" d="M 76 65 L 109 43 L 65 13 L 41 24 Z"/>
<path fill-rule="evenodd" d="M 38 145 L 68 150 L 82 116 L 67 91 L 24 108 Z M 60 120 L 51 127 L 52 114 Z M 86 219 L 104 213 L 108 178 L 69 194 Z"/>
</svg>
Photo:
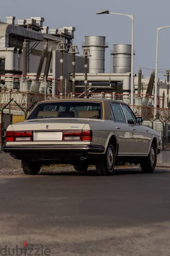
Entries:
<svg viewBox="0 0 170 256">
<path fill-rule="evenodd" d="M 124 104 L 121 104 L 126 121 L 132 131 L 132 155 L 146 154 L 146 133 L 144 127 L 136 124 L 136 119 L 131 109 Z"/>
</svg>

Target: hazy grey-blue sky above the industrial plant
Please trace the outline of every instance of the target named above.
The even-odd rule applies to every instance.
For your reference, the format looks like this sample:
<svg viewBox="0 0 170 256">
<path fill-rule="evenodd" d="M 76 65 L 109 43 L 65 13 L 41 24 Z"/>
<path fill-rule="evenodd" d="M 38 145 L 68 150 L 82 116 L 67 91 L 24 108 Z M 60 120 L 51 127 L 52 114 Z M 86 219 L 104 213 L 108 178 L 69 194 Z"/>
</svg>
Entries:
<svg viewBox="0 0 170 256">
<path fill-rule="evenodd" d="M 131 44 L 131 20 L 118 15 L 96 15 L 99 10 L 134 14 L 134 71 L 138 73 L 141 67 L 144 76 L 150 76 L 151 70 L 148 69 L 155 68 L 156 29 L 170 25 L 169 0 L 6 0 L 1 1 L 0 19 L 41 16 L 45 18 L 43 25 L 49 28 L 74 26 L 74 44 L 79 48 L 84 36 L 106 36 L 109 48 L 106 48 L 105 69 L 110 72 L 113 44 Z M 159 69 L 170 68 L 169 46 L 170 28 L 165 28 L 159 32 Z M 158 74 L 165 78 L 162 73 Z"/>
</svg>

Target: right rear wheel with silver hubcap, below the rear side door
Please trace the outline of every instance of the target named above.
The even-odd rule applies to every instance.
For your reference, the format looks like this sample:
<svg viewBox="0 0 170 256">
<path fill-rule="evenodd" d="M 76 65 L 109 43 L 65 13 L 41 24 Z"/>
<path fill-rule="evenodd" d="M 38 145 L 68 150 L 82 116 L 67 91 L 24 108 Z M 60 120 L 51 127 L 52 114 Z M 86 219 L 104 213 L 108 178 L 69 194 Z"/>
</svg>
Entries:
<svg viewBox="0 0 170 256">
<path fill-rule="evenodd" d="M 109 142 L 106 154 L 98 160 L 96 171 L 101 176 L 111 175 L 115 166 L 115 150 L 113 144 Z"/>
</svg>

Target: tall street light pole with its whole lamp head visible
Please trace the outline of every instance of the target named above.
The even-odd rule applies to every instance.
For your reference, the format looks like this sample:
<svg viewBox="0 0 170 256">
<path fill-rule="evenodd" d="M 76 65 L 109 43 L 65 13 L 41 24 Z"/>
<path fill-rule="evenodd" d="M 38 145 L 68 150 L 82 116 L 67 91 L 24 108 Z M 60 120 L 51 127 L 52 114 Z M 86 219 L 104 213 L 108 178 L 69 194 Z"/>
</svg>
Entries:
<svg viewBox="0 0 170 256">
<path fill-rule="evenodd" d="M 109 12 L 108 10 L 99 11 L 96 14 L 115 14 L 121 16 L 127 16 L 131 19 L 131 83 L 130 83 L 130 105 L 133 105 L 133 91 L 134 91 L 134 15 L 133 14 L 123 14 L 116 12 Z"/>
</svg>

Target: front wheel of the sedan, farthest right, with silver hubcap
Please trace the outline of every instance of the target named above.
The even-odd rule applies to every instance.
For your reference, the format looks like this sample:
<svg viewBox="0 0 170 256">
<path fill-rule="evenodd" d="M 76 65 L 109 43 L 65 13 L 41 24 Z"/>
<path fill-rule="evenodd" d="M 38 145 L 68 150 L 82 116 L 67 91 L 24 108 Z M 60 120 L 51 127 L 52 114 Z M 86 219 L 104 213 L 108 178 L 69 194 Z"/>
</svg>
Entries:
<svg viewBox="0 0 170 256">
<path fill-rule="evenodd" d="M 149 151 L 149 155 L 147 156 L 146 159 L 143 160 L 143 162 L 140 163 L 142 172 L 152 173 L 155 169 L 156 161 L 157 161 L 156 148 L 155 148 L 155 145 L 152 143 Z"/>
</svg>

